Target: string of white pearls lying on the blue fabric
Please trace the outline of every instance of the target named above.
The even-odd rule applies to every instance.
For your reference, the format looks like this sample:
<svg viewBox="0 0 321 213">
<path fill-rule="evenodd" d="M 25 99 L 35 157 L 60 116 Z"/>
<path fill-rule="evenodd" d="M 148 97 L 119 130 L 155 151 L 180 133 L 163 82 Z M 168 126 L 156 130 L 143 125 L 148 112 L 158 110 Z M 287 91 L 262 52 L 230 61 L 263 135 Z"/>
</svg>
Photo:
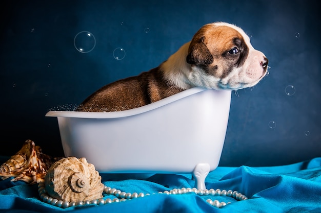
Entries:
<svg viewBox="0 0 321 213">
<path fill-rule="evenodd" d="M 124 202 L 126 200 L 131 200 L 135 198 L 142 198 L 145 196 L 149 196 L 150 194 L 144 194 L 144 193 L 126 193 L 126 192 L 121 192 L 120 190 L 116 190 L 116 188 L 111 188 L 104 186 L 104 192 L 106 195 L 114 195 L 117 198 L 114 198 L 113 200 L 110 198 L 107 198 L 106 200 L 101 198 L 98 200 L 85 200 L 85 201 L 72 201 L 68 202 L 65 200 L 57 200 L 55 198 L 50 197 L 47 194 L 45 184 L 44 182 L 40 182 L 38 184 L 38 193 L 42 201 L 45 203 L 57 206 L 57 207 L 62 207 L 62 208 L 67 208 L 70 206 L 82 206 L 82 205 L 89 205 L 89 204 L 95 204 L 95 205 L 104 205 L 104 204 L 109 204 L 109 203 L 118 203 L 118 202 Z M 186 193 L 195 193 L 196 195 L 203 196 L 203 195 L 212 195 L 212 196 L 228 196 L 232 197 L 237 201 L 242 201 L 242 200 L 247 200 L 248 198 L 237 192 L 237 191 L 226 191 L 226 190 L 213 190 L 211 188 L 210 190 L 197 190 L 197 188 L 174 188 L 173 190 L 170 191 L 164 191 L 164 192 L 158 192 L 158 194 L 166 194 L 166 195 L 182 195 Z M 155 193 L 153 193 L 155 194 Z M 226 206 L 227 204 L 230 204 L 231 202 L 225 203 L 225 202 L 219 202 L 218 200 L 211 200 L 207 199 L 206 202 L 208 202 L 210 205 L 220 208 L 223 206 Z"/>
</svg>

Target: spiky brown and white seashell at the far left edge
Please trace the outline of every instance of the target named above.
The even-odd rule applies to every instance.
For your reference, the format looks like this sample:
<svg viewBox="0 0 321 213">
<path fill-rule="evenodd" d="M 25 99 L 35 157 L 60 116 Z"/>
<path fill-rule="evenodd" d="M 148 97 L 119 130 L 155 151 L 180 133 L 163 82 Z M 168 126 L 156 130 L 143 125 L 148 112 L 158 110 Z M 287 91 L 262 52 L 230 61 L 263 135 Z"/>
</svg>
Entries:
<svg viewBox="0 0 321 213">
<path fill-rule="evenodd" d="M 56 158 L 42 152 L 32 140 L 26 140 L 23 147 L 0 167 L 0 178 L 14 177 L 11 181 L 23 180 L 29 184 L 38 183 L 44 177 Z"/>
</svg>

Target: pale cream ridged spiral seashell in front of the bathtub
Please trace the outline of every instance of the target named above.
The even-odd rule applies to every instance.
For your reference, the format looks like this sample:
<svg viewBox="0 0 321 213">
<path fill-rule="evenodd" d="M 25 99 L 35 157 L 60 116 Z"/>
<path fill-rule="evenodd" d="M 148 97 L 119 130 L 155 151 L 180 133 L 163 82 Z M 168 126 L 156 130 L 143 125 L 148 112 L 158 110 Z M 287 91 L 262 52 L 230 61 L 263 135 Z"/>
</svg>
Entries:
<svg viewBox="0 0 321 213">
<path fill-rule="evenodd" d="M 86 158 L 67 157 L 52 164 L 45 176 L 48 195 L 58 200 L 85 201 L 103 198 L 102 177 Z"/>
</svg>

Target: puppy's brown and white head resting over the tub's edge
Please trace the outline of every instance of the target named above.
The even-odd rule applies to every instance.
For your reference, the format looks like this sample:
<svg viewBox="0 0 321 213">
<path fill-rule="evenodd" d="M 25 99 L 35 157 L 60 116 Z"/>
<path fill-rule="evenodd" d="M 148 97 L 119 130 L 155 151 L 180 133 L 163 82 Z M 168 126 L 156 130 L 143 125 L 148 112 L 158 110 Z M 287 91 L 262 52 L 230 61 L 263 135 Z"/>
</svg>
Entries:
<svg viewBox="0 0 321 213">
<path fill-rule="evenodd" d="M 196 86 L 236 90 L 257 84 L 267 73 L 268 59 L 253 48 L 246 33 L 229 23 L 200 28 L 190 42 L 189 81 Z"/>
</svg>

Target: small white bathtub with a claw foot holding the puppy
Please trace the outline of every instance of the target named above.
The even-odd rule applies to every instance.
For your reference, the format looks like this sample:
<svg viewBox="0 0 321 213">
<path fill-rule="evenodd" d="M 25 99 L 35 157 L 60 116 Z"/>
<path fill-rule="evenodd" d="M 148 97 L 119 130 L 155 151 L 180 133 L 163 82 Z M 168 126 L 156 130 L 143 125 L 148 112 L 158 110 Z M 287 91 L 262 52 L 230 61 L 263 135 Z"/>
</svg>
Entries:
<svg viewBox="0 0 321 213">
<path fill-rule="evenodd" d="M 65 156 L 86 157 L 100 173 L 192 173 L 195 187 L 217 168 L 231 91 L 194 87 L 118 112 L 49 111 Z"/>
</svg>

